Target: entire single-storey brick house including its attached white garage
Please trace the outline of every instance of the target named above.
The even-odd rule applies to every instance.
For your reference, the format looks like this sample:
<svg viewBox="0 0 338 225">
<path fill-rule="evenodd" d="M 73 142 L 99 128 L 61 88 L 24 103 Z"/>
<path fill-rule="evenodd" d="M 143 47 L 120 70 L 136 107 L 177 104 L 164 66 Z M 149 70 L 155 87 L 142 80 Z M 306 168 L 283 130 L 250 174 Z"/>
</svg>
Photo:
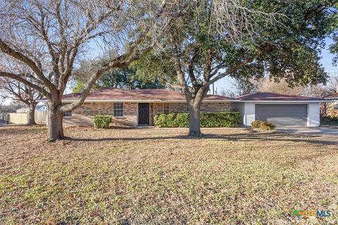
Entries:
<svg viewBox="0 0 338 225">
<path fill-rule="evenodd" d="M 76 101 L 80 94 L 66 94 L 63 103 Z M 45 102 L 46 99 L 41 100 Z M 242 124 L 250 126 L 253 120 L 265 120 L 280 126 L 316 127 L 320 124 L 320 98 L 287 96 L 257 92 L 239 98 L 207 95 L 202 101 L 201 112 L 238 111 Z M 160 113 L 187 113 L 183 93 L 163 89 L 124 90 L 99 89 L 91 91 L 86 100 L 72 113 L 65 115 L 68 125 L 92 125 L 94 115 L 112 115 L 115 127 L 154 125 Z"/>
</svg>

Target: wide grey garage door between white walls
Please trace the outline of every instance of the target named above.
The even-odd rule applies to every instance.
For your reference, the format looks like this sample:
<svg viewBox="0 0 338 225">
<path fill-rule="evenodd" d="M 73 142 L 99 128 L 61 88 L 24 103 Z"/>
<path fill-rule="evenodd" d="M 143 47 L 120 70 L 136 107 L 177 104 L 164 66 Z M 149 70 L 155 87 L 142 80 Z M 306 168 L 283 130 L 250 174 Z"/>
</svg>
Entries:
<svg viewBox="0 0 338 225">
<path fill-rule="evenodd" d="M 277 126 L 306 126 L 307 104 L 256 104 L 255 120 L 272 122 Z"/>
</svg>

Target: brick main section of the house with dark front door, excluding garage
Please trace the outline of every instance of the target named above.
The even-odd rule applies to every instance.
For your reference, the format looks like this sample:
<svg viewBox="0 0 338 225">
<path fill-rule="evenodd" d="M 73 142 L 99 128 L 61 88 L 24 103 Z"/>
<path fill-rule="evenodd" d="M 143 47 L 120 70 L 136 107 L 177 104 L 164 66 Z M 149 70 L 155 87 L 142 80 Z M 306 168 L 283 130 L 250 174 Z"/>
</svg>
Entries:
<svg viewBox="0 0 338 225">
<path fill-rule="evenodd" d="M 63 96 L 63 103 L 70 103 L 80 94 Z M 233 98 L 208 95 L 201 105 L 201 112 L 230 112 Z M 92 126 L 94 115 L 112 115 L 113 127 L 137 127 L 154 125 L 159 113 L 187 113 L 184 94 L 165 89 L 125 90 L 105 88 L 91 91 L 84 104 L 66 114 L 66 125 Z"/>
</svg>

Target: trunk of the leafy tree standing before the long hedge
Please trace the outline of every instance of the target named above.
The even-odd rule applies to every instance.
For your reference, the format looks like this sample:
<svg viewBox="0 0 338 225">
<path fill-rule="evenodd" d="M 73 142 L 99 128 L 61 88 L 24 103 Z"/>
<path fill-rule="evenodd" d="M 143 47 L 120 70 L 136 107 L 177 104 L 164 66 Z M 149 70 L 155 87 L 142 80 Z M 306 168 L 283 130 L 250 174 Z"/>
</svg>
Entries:
<svg viewBox="0 0 338 225">
<path fill-rule="evenodd" d="M 202 136 L 200 113 L 201 104 L 189 105 L 189 136 Z"/>
</svg>

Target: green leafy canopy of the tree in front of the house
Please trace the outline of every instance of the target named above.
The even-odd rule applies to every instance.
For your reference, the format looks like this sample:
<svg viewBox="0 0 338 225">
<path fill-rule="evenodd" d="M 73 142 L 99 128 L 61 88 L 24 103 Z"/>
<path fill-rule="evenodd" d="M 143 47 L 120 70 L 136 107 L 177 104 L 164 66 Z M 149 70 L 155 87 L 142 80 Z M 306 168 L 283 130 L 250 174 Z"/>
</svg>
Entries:
<svg viewBox="0 0 338 225">
<path fill-rule="evenodd" d="M 330 0 L 241 1 L 241 6 L 252 12 L 248 12 L 250 28 L 242 30 L 234 25 L 239 37 L 232 39 L 231 29 L 224 35 L 211 29 L 215 22 L 211 17 L 212 2 L 195 4 L 187 8 L 189 13 L 170 23 L 161 51 L 153 51 L 139 60 L 137 72 L 157 77 L 175 75 L 175 57 L 179 56 L 184 76 L 192 82 L 188 73 L 194 72 L 201 85 L 208 51 L 212 51 L 212 64 L 220 65 L 213 77 L 221 70 L 231 70 L 230 77 L 247 85 L 251 79 L 266 75 L 275 82 L 284 79 L 289 86 L 326 82 L 327 73 L 320 65 L 319 54 L 327 33 L 334 29 L 330 27 L 334 24 L 338 27 L 337 3 L 334 5 Z M 265 13 L 271 13 L 273 20 L 269 21 Z M 230 12 L 232 16 L 239 15 Z M 227 21 L 218 22 L 227 26 Z M 336 36 L 338 43 L 338 34 Z M 337 44 L 332 45 L 332 52 L 338 52 Z M 250 63 L 238 67 L 247 60 Z M 192 70 L 189 70 L 191 63 Z"/>
</svg>

